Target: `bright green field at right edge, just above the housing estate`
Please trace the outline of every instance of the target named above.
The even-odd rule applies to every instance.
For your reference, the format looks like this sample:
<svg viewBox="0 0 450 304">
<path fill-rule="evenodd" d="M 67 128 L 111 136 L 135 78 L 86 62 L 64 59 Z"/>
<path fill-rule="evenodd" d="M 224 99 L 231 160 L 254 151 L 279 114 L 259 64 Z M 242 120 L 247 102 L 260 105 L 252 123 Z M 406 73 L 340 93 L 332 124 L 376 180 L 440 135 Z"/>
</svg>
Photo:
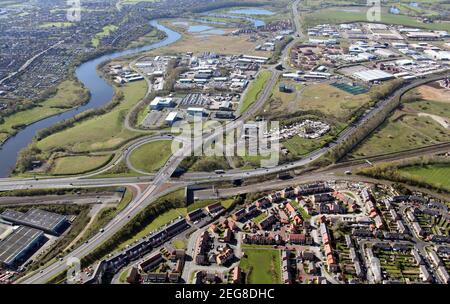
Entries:
<svg viewBox="0 0 450 304">
<path fill-rule="evenodd" d="M 411 166 L 398 169 L 406 177 L 450 190 L 450 164 Z"/>
</svg>

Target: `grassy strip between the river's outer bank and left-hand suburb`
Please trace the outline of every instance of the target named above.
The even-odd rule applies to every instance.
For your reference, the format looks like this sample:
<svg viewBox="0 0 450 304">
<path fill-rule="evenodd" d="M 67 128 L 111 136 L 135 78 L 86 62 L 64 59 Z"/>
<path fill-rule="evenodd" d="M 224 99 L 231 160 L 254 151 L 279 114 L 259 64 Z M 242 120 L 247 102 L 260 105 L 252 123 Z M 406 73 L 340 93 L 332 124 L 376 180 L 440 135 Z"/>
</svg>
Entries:
<svg viewBox="0 0 450 304">
<path fill-rule="evenodd" d="M 5 121 L 0 124 L 0 133 L 11 134 L 17 126 L 28 125 L 61 113 L 64 109 L 80 105 L 85 101 L 87 96 L 87 92 L 78 82 L 73 80 L 63 81 L 58 86 L 56 94 L 41 102 L 37 107 L 5 117 Z M 0 137 L 1 141 L 2 138 Z"/>
</svg>

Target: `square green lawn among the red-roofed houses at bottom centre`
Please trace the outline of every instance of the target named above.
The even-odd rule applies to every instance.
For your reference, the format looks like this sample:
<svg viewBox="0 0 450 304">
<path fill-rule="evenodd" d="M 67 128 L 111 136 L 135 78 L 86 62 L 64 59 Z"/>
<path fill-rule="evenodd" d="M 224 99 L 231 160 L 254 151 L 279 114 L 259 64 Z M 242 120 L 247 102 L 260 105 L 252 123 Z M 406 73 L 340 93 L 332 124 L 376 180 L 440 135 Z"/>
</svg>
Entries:
<svg viewBox="0 0 450 304">
<path fill-rule="evenodd" d="M 280 251 L 275 249 L 244 249 L 240 267 L 247 274 L 249 284 L 280 284 Z"/>
</svg>

